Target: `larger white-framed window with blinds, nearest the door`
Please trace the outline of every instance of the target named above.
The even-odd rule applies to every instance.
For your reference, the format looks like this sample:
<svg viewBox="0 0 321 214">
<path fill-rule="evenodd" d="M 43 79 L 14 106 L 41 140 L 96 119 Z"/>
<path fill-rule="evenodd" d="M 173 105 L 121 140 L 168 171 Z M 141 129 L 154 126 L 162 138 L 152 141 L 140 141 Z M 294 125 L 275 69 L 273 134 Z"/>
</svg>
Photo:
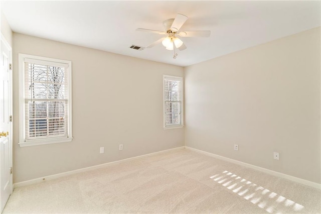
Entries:
<svg viewBox="0 0 321 214">
<path fill-rule="evenodd" d="M 71 141 L 71 61 L 19 54 L 19 87 L 19 145 Z"/>
</svg>

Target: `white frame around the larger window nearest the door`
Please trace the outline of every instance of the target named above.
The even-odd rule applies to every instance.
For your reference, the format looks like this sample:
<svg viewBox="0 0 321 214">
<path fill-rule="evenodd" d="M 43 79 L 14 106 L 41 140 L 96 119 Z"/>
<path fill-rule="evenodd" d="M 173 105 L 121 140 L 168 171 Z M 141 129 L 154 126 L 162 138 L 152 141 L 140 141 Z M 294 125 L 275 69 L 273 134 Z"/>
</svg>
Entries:
<svg viewBox="0 0 321 214">
<path fill-rule="evenodd" d="M 25 61 L 26 59 L 32 59 L 37 61 L 47 61 L 50 63 L 59 63 L 59 64 L 67 64 L 68 71 L 65 73 L 67 76 L 67 84 L 68 84 L 68 98 L 67 98 L 67 137 L 61 136 L 50 136 L 50 137 L 39 137 L 38 139 L 32 139 L 26 141 L 26 107 L 25 107 Z M 35 56 L 30 54 L 19 54 L 19 146 L 36 146 L 36 145 L 44 145 L 44 144 L 53 144 L 53 143 L 64 143 L 71 142 L 72 137 L 72 62 L 68 60 L 62 59 L 54 59 L 42 56 Z"/>
</svg>

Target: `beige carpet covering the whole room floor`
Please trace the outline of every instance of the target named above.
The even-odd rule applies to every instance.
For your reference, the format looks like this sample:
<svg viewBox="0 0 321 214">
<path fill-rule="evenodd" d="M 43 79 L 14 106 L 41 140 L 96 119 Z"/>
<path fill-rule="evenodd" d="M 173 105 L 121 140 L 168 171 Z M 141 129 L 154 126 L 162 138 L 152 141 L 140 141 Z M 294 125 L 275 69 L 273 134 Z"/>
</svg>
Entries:
<svg viewBox="0 0 321 214">
<path fill-rule="evenodd" d="M 181 149 L 16 188 L 3 213 L 320 213 L 321 191 Z"/>
</svg>

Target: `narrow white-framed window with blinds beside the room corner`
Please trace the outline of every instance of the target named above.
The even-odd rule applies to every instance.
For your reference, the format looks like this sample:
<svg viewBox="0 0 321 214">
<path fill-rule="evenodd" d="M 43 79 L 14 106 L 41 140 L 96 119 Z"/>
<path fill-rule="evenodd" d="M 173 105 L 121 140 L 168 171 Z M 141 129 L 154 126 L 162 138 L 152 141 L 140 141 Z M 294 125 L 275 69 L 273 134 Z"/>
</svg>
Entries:
<svg viewBox="0 0 321 214">
<path fill-rule="evenodd" d="M 164 128 L 183 127 L 183 78 L 164 75 Z"/>
</svg>

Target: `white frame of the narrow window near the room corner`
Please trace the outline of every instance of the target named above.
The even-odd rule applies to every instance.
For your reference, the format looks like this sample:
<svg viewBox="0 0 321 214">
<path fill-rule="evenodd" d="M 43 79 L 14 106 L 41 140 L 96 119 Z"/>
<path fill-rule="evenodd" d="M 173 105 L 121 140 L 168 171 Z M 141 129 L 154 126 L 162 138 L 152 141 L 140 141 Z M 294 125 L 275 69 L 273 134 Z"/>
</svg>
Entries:
<svg viewBox="0 0 321 214">
<path fill-rule="evenodd" d="M 175 79 L 178 81 L 181 81 L 181 124 L 179 125 L 170 125 L 166 126 L 166 99 L 165 99 L 165 80 L 166 78 Z M 183 77 L 181 76 L 172 76 L 172 75 L 163 75 L 163 128 L 165 130 L 167 129 L 177 129 L 177 128 L 183 128 L 184 127 L 184 86 L 183 86 Z"/>
</svg>

